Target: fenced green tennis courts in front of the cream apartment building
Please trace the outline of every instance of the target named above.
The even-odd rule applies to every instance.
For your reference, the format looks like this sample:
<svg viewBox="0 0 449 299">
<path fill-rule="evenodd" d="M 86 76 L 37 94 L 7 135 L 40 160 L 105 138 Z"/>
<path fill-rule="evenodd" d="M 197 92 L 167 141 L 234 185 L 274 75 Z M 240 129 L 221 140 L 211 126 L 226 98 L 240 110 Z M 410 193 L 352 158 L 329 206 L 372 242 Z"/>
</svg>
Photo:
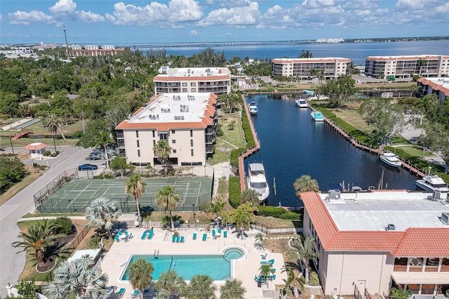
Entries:
<svg viewBox="0 0 449 299">
<path fill-rule="evenodd" d="M 176 211 L 198 210 L 201 201 L 210 201 L 212 180 L 210 178 L 151 178 L 145 179 L 145 193 L 140 199 L 140 208 L 159 211 L 154 198 L 157 190 L 164 186 L 175 187 L 180 194 Z M 38 207 L 41 213 L 84 213 L 93 199 L 107 197 L 119 203 L 123 213 L 135 213 L 135 199 L 125 193 L 123 180 L 74 180 L 63 185 Z"/>
</svg>

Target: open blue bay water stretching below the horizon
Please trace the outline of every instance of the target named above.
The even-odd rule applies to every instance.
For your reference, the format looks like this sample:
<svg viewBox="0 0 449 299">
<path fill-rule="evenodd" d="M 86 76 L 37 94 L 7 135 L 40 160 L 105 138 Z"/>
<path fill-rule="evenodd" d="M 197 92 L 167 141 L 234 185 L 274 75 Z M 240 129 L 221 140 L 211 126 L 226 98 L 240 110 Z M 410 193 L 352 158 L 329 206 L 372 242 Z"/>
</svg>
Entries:
<svg viewBox="0 0 449 299">
<path fill-rule="evenodd" d="M 140 47 L 148 51 L 149 47 Z M 159 50 L 161 48 L 158 48 Z M 173 47 L 166 48 L 167 55 L 186 55 L 191 57 L 204 51 L 206 47 Z M 260 45 L 260 46 L 220 46 L 213 47 L 217 52 L 225 52 L 228 60 L 233 57 L 241 59 L 257 58 L 271 60 L 273 58 L 297 58 L 302 49 L 310 51 L 314 57 L 351 58 L 355 65 L 365 65 L 367 56 L 391 55 L 449 55 L 449 41 L 395 41 L 379 43 L 340 43 L 340 44 L 295 44 L 295 45 Z"/>
</svg>

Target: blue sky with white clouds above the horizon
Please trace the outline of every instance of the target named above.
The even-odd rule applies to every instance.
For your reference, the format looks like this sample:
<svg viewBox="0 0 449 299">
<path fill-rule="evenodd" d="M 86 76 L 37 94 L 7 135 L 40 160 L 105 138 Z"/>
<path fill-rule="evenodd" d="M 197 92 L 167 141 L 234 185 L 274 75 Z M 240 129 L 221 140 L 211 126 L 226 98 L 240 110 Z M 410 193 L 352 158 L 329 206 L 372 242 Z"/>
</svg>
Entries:
<svg viewBox="0 0 449 299">
<path fill-rule="evenodd" d="M 0 44 L 449 36 L 448 0 L 1 0 Z"/>
</svg>

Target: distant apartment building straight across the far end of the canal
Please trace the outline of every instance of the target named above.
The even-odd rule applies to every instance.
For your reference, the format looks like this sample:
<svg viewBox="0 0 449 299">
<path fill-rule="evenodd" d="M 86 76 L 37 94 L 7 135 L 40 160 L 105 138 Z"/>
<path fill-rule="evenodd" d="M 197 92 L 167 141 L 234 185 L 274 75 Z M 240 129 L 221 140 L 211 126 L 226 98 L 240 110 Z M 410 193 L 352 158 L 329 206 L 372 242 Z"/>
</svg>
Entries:
<svg viewBox="0 0 449 299">
<path fill-rule="evenodd" d="M 319 77 L 320 74 L 312 76 L 314 69 L 323 72 L 325 79 L 335 79 L 346 74 L 350 64 L 349 58 L 276 58 L 272 60 L 272 69 L 274 77 L 299 77 L 301 80 Z"/>
</svg>

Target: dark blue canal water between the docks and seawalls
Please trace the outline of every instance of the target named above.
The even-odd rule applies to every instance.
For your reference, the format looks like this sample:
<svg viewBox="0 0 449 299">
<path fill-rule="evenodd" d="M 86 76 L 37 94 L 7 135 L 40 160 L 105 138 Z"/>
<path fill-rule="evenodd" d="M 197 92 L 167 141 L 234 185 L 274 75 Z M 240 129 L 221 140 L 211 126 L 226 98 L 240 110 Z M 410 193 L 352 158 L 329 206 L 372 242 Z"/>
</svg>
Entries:
<svg viewBox="0 0 449 299">
<path fill-rule="evenodd" d="M 251 118 L 261 150 L 246 159 L 245 171 L 248 162 L 264 164 L 270 206 L 302 206 L 293 189 L 293 182 L 301 175 L 316 179 L 321 191 L 329 190 L 329 184 L 335 182 L 365 190 L 379 185 L 383 171 L 384 189 L 415 190 L 415 175 L 384 165 L 375 154 L 357 150 L 328 124 L 312 121 L 311 110 L 297 108 L 294 100 L 273 95 L 253 95 L 246 100 L 257 102 L 257 116 Z"/>
</svg>

